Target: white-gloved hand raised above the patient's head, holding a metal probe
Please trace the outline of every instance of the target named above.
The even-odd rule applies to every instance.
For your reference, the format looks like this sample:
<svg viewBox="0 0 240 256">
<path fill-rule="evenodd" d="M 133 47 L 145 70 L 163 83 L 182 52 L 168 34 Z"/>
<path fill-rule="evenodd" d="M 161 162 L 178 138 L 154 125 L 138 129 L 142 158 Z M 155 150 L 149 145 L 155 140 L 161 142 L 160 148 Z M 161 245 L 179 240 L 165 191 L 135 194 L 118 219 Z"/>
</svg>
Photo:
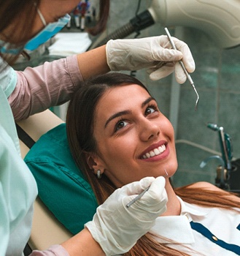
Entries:
<svg viewBox="0 0 240 256">
<path fill-rule="evenodd" d="M 175 69 L 177 82 L 185 83 L 187 77 L 178 61 L 182 59 L 188 72 L 195 70 L 195 62 L 187 44 L 172 39 L 178 50 L 172 49 L 167 36 L 109 40 L 107 64 L 112 71 L 148 68 L 152 80 L 164 78 Z"/>
</svg>

